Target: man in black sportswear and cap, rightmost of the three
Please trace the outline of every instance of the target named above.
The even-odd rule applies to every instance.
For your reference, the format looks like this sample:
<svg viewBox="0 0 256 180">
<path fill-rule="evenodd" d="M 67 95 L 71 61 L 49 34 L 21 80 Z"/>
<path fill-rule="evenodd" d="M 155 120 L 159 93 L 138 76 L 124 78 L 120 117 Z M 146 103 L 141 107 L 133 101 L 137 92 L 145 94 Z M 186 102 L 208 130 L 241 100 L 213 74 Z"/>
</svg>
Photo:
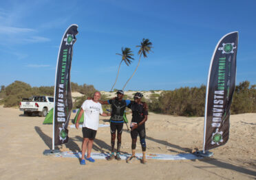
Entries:
<svg viewBox="0 0 256 180">
<path fill-rule="evenodd" d="M 145 122 L 147 121 L 147 115 L 149 114 L 147 111 L 147 105 L 141 102 L 143 95 L 140 92 L 136 92 L 134 95 L 135 103 L 130 103 L 128 105 L 132 111 L 132 118 L 131 118 L 131 157 L 127 159 L 127 163 L 130 163 L 133 159 L 136 158 L 135 149 L 136 149 L 136 142 L 137 136 L 140 136 L 140 144 L 142 147 L 142 164 L 147 164 L 146 161 L 146 129 L 145 129 Z"/>
</svg>

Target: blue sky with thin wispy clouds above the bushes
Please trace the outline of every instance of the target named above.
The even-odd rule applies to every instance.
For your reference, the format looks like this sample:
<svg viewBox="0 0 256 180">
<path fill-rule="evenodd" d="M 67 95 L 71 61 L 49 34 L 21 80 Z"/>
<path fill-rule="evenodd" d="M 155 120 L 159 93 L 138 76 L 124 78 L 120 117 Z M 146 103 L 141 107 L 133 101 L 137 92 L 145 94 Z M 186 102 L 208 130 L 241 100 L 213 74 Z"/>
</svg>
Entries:
<svg viewBox="0 0 256 180">
<path fill-rule="evenodd" d="M 138 64 L 142 38 L 153 53 L 142 58 L 125 90 L 173 90 L 206 84 L 217 42 L 239 31 L 237 84 L 256 84 L 256 1 L 1 1 L 0 85 L 15 80 L 54 86 L 58 46 L 65 29 L 78 25 L 71 80 L 111 89 L 122 47 L 134 52 L 122 64 L 121 89 Z"/>
</svg>

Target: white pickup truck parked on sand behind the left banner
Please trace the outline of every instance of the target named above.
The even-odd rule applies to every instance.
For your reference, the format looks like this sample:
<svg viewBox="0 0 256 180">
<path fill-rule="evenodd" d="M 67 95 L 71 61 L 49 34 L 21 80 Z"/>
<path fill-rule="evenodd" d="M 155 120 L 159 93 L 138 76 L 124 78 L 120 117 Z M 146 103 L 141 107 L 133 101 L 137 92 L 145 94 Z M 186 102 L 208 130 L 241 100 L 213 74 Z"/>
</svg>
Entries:
<svg viewBox="0 0 256 180">
<path fill-rule="evenodd" d="M 30 101 L 21 101 L 19 110 L 24 112 L 24 115 L 31 116 L 33 113 L 45 117 L 47 113 L 54 107 L 54 97 L 35 96 Z"/>
</svg>

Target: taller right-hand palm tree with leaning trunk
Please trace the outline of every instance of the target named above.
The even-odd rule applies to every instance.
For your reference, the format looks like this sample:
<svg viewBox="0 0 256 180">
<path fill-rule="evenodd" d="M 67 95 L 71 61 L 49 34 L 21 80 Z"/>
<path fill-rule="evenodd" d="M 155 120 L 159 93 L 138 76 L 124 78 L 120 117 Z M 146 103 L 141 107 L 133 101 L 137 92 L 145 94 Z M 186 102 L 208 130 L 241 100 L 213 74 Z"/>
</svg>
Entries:
<svg viewBox="0 0 256 180">
<path fill-rule="evenodd" d="M 142 42 L 140 42 L 140 46 L 136 46 L 136 47 L 140 47 L 140 50 L 138 51 L 138 55 L 140 55 L 140 58 L 141 58 L 141 55 L 143 54 L 143 57 L 147 57 L 147 53 L 149 53 L 149 51 L 151 51 L 151 48 L 152 47 L 152 42 L 149 41 L 149 39 L 145 39 L 143 38 L 142 39 Z M 136 67 L 136 69 L 134 70 L 134 74 L 138 68 L 138 66 L 140 65 L 140 60 L 138 62 L 138 65 Z M 131 77 L 134 76 L 134 74 L 131 75 Z M 129 82 L 129 80 L 131 79 L 131 77 L 128 79 L 128 81 L 125 83 L 125 86 L 127 86 L 127 83 Z M 122 90 L 125 89 L 125 86 L 122 88 Z"/>
</svg>

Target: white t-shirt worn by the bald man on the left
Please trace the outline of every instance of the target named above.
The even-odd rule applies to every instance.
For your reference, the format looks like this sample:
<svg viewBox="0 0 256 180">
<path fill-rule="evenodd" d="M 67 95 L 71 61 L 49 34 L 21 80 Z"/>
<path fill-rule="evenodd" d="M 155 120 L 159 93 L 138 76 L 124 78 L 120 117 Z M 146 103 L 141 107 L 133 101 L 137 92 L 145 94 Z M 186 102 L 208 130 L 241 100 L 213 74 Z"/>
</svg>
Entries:
<svg viewBox="0 0 256 180">
<path fill-rule="evenodd" d="M 81 107 L 84 110 L 83 127 L 98 130 L 98 119 L 100 114 L 103 114 L 101 104 L 86 100 Z"/>
</svg>

